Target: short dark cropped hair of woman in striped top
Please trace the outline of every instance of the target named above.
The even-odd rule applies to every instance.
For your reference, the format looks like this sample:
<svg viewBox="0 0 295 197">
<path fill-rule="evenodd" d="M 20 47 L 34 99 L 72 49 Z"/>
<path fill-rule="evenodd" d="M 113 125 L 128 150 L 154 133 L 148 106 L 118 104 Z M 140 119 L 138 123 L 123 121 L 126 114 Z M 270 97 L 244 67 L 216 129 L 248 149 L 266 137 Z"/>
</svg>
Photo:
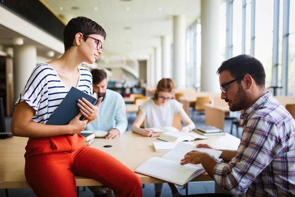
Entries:
<svg viewBox="0 0 295 197">
<path fill-rule="evenodd" d="M 64 51 L 69 50 L 74 46 L 74 38 L 77 33 L 83 33 L 83 35 L 97 34 L 103 36 L 104 40 L 107 37 L 107 33 L 104 29 L 98 25 L 95 21 L 89 18 L 79 16 L 77 18 L 72 18 L 63 30 L 63 44 Z M 84 41 L 88 37 L 83 36 Z"/>
</svg>

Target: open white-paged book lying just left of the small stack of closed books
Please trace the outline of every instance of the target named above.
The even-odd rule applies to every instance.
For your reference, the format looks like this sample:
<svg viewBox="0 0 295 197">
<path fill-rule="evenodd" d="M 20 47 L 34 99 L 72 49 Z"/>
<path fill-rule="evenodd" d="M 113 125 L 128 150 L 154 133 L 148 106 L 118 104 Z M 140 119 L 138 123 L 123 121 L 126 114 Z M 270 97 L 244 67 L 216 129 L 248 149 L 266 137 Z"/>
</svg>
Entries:
<svg viewBox="0 0 295 197">
<path fill-rule="evenodd" d="M 207 139 L 208 137 L 192 132 L 162 132 L 158 139 L 168 142 L 193 141 L 198 139 Z"/>
</svg>

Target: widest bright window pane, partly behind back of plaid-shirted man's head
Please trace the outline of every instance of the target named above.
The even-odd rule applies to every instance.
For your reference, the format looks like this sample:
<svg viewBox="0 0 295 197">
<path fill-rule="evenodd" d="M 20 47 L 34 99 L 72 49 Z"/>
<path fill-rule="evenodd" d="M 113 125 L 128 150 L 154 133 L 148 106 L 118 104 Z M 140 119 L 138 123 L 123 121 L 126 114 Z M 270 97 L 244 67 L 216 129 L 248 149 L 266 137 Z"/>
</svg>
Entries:
<svg viewBox="0 0 295 197">
<path fill-rule="evenodd" d="M 273 43 L 273 0 L 256 0 L 255 57 L 266 71 L 266 88 L 271 86 Z"/>
</svg>

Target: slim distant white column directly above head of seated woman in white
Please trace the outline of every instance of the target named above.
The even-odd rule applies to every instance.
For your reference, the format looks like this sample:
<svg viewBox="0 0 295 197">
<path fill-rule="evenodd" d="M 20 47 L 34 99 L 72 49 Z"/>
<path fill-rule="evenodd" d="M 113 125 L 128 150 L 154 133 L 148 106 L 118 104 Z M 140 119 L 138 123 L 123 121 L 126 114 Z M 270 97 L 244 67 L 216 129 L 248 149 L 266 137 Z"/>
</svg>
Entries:
<svg viewBox="0 0 295 197">
<path fill-rule="evenodd" d="M 170 36 L 162 36 L 162 77 L 171 78 L 171 47 Z"/>
</svg>

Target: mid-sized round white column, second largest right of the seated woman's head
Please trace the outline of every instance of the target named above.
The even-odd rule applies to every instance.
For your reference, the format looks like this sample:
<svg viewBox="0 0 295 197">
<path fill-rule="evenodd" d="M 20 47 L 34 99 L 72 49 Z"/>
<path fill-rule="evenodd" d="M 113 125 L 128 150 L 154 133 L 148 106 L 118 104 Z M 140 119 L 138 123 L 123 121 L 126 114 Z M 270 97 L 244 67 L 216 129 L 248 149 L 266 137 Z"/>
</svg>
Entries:
<svg viewBox="0 0 295 197">
<path fill-rule="evenodd" d="M 174 29 L 174 64 L 173 76 L 177 88 L 185 88 L 185 16 L 173 17 Z"/>
</svg>

